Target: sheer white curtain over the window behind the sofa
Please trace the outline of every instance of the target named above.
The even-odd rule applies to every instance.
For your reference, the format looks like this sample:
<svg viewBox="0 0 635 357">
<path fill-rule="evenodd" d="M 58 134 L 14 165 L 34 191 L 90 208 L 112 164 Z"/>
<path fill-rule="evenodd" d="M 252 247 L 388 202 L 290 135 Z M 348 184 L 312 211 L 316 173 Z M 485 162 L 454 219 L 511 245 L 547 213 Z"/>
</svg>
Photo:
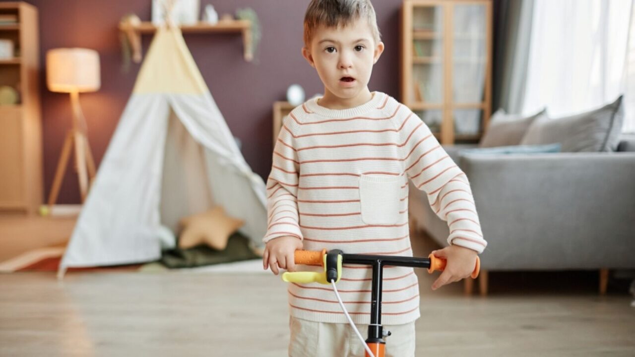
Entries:
<svg viewBox="0 0 635 357">
<path fill-rule="evenodd" d="M 523 114 L 559 117 L 625 91 L 632 0 L 536 0 Z M 632 118 L 634 113 L 626 113 Z"/>
</svg>

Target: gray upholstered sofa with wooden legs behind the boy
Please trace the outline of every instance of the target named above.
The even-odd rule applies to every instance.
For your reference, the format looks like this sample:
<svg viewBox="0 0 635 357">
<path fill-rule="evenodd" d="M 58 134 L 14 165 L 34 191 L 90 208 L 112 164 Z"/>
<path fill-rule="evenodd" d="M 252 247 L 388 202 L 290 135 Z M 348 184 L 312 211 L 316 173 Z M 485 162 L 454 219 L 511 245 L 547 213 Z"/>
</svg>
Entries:
<svg viewBox="0 0 635 357">
<path fill-rule="evenodd" d="M 462 155 L 445 147 L 470 180 L 488 247 L 488 271 L 635 268 L 635 136 L 617 152 Z M 410 187 L 415 229 L 446 246 L 448 226 Z M 468 282 L 470 283 L 470 282 Z M 471 284 L 471 283 L 470 283 Z M 471 287 L 466 285 L 467 290 Z"/>
</svg>

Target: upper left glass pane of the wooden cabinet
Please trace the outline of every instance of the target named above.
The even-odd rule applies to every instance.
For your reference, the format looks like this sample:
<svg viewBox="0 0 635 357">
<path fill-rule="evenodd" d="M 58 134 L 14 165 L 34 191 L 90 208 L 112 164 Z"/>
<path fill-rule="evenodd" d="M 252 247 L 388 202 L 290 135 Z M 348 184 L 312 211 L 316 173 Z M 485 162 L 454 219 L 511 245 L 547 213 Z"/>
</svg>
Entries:
<svg viewBox="0 0 635 357">
<path fill-rule="evenodd" d="M 443 102 L 443 7 L 413 8 L 410 101 Z"/>
</svg>

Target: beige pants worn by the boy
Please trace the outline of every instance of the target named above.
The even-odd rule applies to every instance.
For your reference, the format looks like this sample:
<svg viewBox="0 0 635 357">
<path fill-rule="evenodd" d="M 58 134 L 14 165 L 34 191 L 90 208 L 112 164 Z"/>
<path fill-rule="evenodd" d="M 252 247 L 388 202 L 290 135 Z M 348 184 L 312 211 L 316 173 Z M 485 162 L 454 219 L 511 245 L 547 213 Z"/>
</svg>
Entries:
<svg viewBox="0 0 635 357">
<path fill-rule="evenodd" d="M 291 317 L 291 341 L 289 357 L 364 357 L 364 346 L 348 323 L 323 323 Z M 359 333 L 366 339 L 368 326 L 358 325 Z M 386 338 L 386 357 L 415 356 L 415 323 L 384 325 L 384 331 L 392 335 Z"/>
</svg>

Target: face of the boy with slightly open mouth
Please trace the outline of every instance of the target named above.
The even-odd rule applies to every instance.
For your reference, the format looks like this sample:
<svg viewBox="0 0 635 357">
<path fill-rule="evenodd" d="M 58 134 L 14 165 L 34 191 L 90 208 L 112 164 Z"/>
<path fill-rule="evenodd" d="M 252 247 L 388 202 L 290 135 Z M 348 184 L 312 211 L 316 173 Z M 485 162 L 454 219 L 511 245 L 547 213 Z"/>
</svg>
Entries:
<svg viewBox="0 0 635 357">
<path fill-rule="evenodd" d="M 354 100 L 368 93 L 373 64 L 382 51 L 384 43 L 375 43 L 368 21 L 359 19 L 345 27 L 319 27 L 302 55 L 318 71 L 327 93 Z"/>
</svg>

